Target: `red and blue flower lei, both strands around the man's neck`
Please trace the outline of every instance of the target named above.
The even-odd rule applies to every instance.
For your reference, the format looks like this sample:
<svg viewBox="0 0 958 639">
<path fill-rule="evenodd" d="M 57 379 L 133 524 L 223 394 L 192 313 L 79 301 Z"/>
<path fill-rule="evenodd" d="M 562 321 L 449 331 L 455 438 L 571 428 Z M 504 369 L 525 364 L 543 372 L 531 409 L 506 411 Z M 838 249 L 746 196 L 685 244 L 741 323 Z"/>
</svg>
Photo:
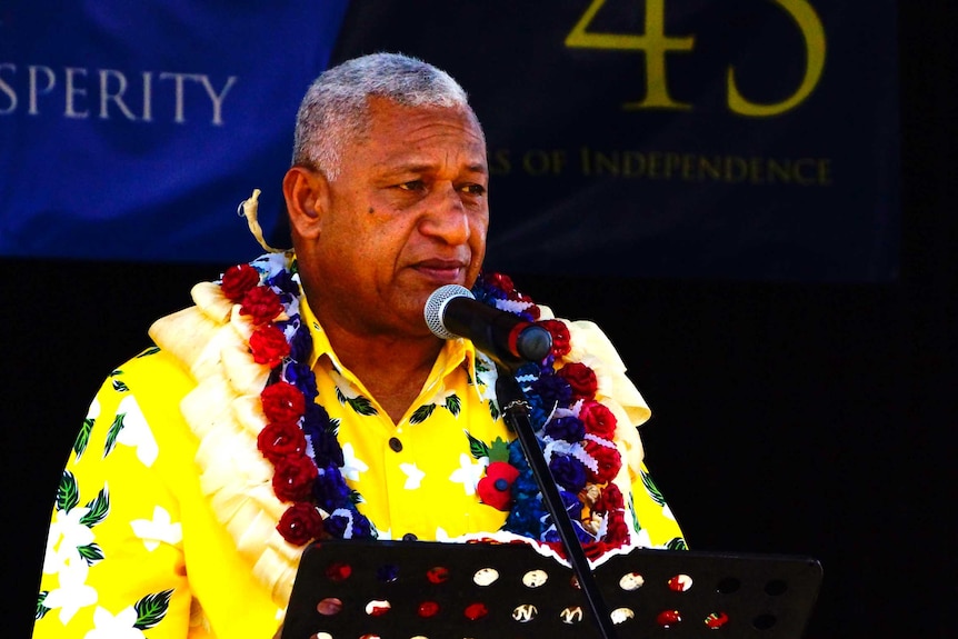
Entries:
<svg viewBox="0 0 958 639">
<path fill-rule="evenodd" d="M 376 538 L 376 527 L 356 508 L 359 495 L 341 472 L 338 420 L 315 401 L 316 377 L 307 363 L 312 338 L 299 313 L 300 280 L 291 253 L 230 267 L 217 283 L 253 327 L 249 338 L 253 360 L 270 368 L 260 393 L 266 426 L 257 447 L 273 466 L 276 497 L 290 503 L 277 530 L 293 546 L 329 537 Z M 480 277 L 473 294 L 538 321 L 551 333 L 552 353 L 517 371 L 533 429 L 587 555 L 622 546 L 630 527 L 622 493 L 612 483 L 622 465 L 612 442 L 616 418 L 596 400 L 595 372 L 562 360 L 570 351 L 568 328 L 559 320 L 539 320 L 539 307 L 516 291 L 507 276 Z M 486 476 L 477 486 L 480 499 L 509 511 L 503 530 L 545 542 L 561 555 L 558 532 L 518 440 L 490 450 Z"/>
</svg>

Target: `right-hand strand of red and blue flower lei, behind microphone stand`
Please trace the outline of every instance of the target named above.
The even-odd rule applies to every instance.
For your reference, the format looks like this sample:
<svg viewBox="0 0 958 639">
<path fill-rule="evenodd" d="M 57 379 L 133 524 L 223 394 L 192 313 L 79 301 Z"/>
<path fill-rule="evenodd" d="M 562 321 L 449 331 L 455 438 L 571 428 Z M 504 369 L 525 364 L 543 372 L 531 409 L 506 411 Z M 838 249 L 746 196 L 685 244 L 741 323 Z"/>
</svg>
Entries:
<svg viewBox="0 0 958 639">
<path fill-rule="evenodd" d="M 540 320 L 539 307 L 516 291 L 508 276 L 483 274 L 472 293 L 499 310 L 538 322 L 552 336 L 552 352 L 516 372 L 530 406 L 532 429 L 587 556 L 596 558 L 623 546 L 631 535 L 625 498 L 612 483 L 622 466 L 613 442 L 617 420 L 596 399 L 595 371 L 581 362 L 563 361 L 571 351 L 568 327 L 556 319 Z M 486 477 L 477 486 L 479 497 L 509 512 L 503 530 L 543 541 L 563 556 L 558 529 L 519 440 L 505 451 L 497 453 L 493 447 L 490 452 Z"/>
</svg>

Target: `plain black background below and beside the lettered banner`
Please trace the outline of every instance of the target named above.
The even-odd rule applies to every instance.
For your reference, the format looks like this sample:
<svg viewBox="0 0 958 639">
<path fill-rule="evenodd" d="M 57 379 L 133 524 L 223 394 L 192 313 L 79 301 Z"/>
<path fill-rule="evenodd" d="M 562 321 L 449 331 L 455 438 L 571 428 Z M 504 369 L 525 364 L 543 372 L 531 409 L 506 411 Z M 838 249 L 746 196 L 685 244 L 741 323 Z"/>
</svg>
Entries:
<svg viewBox="0 0 958 639">
<path fill-rule="evenodd" d="M 899 281 L 512 273 L 619 347 L 655 413 L 649 463 L 695 549 L 821 561 L 809 638 L 944 638 L 958 623 L 958 140 L 944 7 L 899 8 Z M 147 345 L 154 318 L 187 306 L 190 286 L 224 266 L 0 260 L 3 636 L 29 633 L 60 467 L 97 387 Z"/>
</svg>

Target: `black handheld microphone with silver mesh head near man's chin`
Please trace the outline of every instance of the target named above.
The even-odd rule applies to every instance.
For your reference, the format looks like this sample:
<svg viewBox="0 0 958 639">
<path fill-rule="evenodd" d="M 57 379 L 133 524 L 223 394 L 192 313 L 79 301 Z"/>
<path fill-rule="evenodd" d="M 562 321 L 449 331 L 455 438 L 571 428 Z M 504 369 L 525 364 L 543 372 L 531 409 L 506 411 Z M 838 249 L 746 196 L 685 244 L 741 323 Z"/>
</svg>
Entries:
<svg viewBox="0 0 958 639">
<path fill-rule="evenodd" d="M 459 284 L 439 287 L 423 309 L 429 330 L 438 338 L 462 337 L 508 366 L 516 360 L 541 361 L 552 350 L 552 336 L 545 328 L 510 312 L 476 301 L 472 291 Z"/>
</svg>

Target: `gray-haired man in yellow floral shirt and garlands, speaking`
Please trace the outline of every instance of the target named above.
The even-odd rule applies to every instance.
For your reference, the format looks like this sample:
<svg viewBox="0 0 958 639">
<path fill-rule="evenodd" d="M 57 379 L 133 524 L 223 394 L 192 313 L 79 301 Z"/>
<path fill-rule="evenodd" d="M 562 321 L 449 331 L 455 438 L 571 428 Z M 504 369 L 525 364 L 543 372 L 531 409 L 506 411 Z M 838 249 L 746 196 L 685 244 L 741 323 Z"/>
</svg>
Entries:
<svg viewBox="0 0 958 639">
<path fill-rule="evenodd" d="M 373 54 L 313 83 L 283 180 L 295 252 L 198 284 L 104 383 L 58 491 L 34 636 L 270 637 L 317 538 L 557 548 L 495 366 L 423 321 L 447 283 L 552 333 L 520 380 L 589 553 L 682 546 L 608 340 L 480 276 L 488 181 L 445 72 Z"/>
</svg>

